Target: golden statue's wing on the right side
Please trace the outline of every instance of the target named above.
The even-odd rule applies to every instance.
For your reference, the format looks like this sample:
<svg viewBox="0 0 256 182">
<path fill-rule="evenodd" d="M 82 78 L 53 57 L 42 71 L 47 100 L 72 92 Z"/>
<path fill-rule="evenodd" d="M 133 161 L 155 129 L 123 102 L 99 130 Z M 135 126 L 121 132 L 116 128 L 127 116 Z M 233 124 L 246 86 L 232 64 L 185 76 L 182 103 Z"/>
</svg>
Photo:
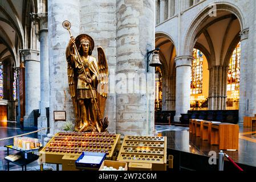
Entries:
<svg viewBox="0 0 256 182">
<path fill-rule="evenodd" d="M 97 102 L 100 109 L 100 119 L 103 119 L 105 102 L 108 96 L 108 63 L 102 47 L 97 47 L 98 53 L 98 86 L 97 86 Z"/>
</svg>

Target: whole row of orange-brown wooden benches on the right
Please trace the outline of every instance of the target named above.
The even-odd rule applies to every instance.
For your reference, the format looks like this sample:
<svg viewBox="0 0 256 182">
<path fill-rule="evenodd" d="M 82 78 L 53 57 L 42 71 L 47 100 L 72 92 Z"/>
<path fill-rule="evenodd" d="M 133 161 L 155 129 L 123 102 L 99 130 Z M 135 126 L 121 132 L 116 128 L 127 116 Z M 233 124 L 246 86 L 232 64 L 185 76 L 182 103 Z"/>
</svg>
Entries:
<svg viewBox="0 0 256 182">
<path fill-rule="evenodd" d="M 219 146 L 219 150 L 238 150 L 239 126 L 232 123 L 189 120 L 189 132 L 210 144 Z"/>
</svg>

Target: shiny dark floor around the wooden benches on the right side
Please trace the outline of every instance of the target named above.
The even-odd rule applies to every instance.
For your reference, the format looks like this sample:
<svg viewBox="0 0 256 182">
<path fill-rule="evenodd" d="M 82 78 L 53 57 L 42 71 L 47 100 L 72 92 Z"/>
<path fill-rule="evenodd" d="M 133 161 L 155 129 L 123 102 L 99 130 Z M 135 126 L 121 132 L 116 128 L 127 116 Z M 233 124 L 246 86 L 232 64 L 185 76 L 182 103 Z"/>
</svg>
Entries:
<svg viewBox="0 0 256 182">
<path fill-rule="evenodd" d="M 218 154 L 218 145 L 210 145 L 208 140 L 202 140 L 189 130 L 162 131 L 162 136 L 167 137 L 167 147 L 189 152 L 192 154 L 209 156 L 210 151 Z M 255 128 L 243 128 L 239 125 L 238 151 L 224 151 L 234 162 L 256 167 L 256 131 Z"/>
</svg>

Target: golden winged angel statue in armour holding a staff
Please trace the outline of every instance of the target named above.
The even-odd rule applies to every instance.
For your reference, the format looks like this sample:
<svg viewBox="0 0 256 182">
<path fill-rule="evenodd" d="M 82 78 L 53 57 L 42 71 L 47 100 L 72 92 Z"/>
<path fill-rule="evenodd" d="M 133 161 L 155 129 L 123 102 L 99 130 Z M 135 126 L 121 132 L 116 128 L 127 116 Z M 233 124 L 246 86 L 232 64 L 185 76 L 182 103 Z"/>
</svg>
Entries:
<svg viewBox="0 0 256 182">
<path fill-rule="evenodd" d="M 71 37 L 66 49 L 68 84 L 75 111 L 75 131 L 107 132 L 103 118 L 108 92 L 108 63 L 103 48 L 92 56 L 94 40 L 87 34 Z"/>
</svg>

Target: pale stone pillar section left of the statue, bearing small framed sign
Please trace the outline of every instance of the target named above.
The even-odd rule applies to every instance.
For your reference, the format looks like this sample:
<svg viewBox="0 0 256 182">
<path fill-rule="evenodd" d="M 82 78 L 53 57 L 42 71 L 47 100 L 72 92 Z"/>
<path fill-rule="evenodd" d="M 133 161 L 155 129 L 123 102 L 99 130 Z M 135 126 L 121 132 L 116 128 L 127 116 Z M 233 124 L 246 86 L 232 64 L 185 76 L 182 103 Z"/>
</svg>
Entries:
<svg viewBox="0 0 256 182">
<path fill-rule="evenodd" d="M 71 22 L 73 36 L 79 35 L 80 1 L 48 1 L 48 45 L 50 81 L 50 134 L 63 131 L 63 126 L 74 122 L 75 114 L 70 97 L 67 77 L 66 47 L 70 40 L 68 31 L 62 27 L 64 20 Z M 66 121 L 54 121 L 54 111 L 66 111 Z"/>
</svg>

